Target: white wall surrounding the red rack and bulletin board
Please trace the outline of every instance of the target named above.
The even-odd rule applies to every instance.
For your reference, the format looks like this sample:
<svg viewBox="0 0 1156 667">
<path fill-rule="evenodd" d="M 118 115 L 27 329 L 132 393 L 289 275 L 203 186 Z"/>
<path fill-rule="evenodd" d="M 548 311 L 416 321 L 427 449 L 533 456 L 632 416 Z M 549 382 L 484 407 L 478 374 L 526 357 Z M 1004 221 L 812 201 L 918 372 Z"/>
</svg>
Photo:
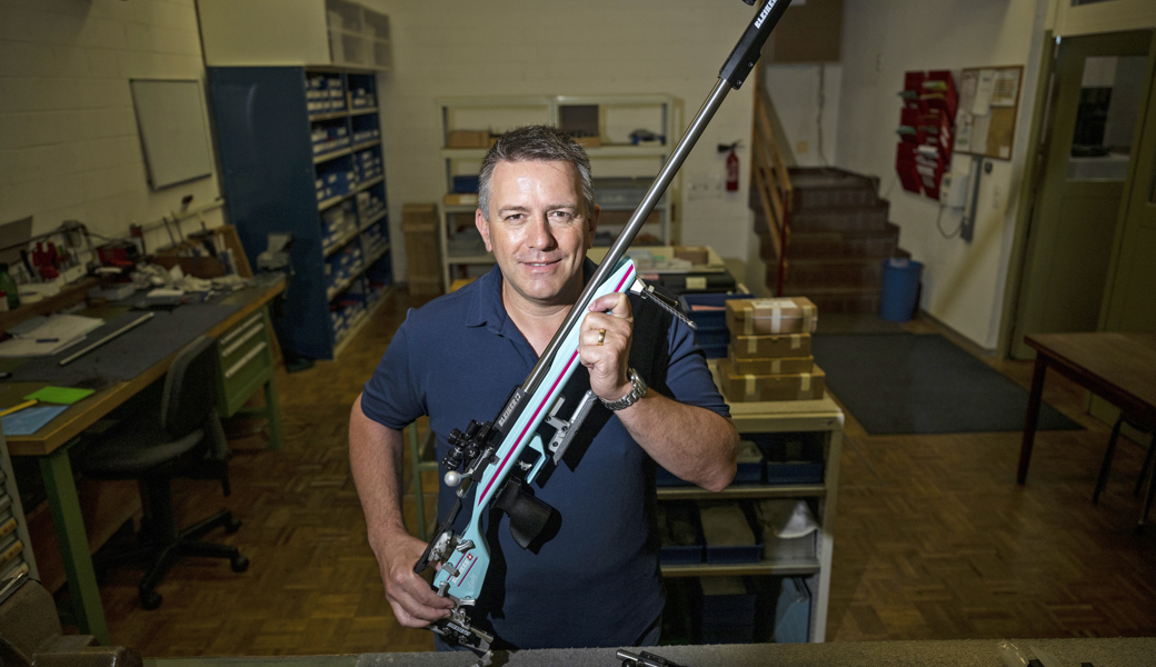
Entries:
<svg viewBox="0 0 1156 667">
<path fill-rule="evenodd" d="M 844 14 L 836 163 L 882 178 L 899 245 L 925 264 L 921 307 L 988 349 L 998 342 L 1046 9 L 1047 0 L 857 0 Z M 975 239 L 949 240 L 936 230 L 938 205 L 895 185 L 896 92 L 909 69 L 1001 65 L 1025 66 L 1011 161 L 993 161 L 984 177 Z M 949 212 L 941 225 L 950 232 L 958 222 Z"/>
</svg>

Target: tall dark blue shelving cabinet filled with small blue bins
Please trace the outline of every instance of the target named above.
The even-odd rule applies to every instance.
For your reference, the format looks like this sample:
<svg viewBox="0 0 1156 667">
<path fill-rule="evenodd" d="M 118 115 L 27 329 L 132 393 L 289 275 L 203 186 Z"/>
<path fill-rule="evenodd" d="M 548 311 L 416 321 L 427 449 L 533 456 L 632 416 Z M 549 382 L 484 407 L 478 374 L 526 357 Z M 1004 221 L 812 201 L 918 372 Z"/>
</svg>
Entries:
<svg viewBox="0 0 1156 667">
<path fill-rule="evenodd" d="M 225 199 L 250 262 L 269 234 L 295 237 L 279 338 L 302 356 L 333 358 L 392 276 L 377 73 L 230 66 L 208 75 Z"/>
</svg>

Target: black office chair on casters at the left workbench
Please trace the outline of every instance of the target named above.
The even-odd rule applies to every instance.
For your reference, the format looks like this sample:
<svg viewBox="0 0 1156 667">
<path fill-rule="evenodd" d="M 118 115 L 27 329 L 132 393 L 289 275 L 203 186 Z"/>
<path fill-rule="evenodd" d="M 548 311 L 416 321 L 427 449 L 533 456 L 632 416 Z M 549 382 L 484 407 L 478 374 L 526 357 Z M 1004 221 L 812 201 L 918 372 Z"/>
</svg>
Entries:
<svg viewBox="0 0 1156 667">
<path fill-rule="evenodd" d="M 240 521 L 228 510 L 180 529 L 172 502 L 172 480 L 220 480 L 229 495 L 229 444 L 216 413 L 217 383 L 214 339 L 200 336 L 177 353 L 164 379 L 160 407 L 139 412 L 102 435 L 80 453 L 76 468 L 97 480 L 136 480 L 144 517 L 138 544 L 99 554 L 94 564 L 105 569 L 126 561 L 148 563 L 138 586 L 141 606 L 156 609 L 155 591 L 169 566 L 180 556 L 229 558 L 234 572 L 244 572 L 249 559 L 236 547 L 200 542 L 215 528 L 235 533 Z M 155 402 L 154 402 L 155 406 Z"/>
</svg>

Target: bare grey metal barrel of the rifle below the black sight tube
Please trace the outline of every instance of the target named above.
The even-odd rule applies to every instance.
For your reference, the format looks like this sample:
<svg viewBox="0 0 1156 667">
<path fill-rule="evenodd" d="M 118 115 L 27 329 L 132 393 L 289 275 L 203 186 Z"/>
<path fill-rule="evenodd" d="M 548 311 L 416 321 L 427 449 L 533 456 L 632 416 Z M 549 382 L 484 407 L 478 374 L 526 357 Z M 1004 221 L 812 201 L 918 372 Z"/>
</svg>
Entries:
<svg viewBox="0 0 1156 667">
<path fill-rule="evenodd" d="M 724 79 L 719 79 L 718 83 L 711 90 L 710 96 L 706 102 L 703 103 L 702 109 L 695 114 L 695 119 L 690 121 L 690 126 L 687 132 L 679 140 L 677 146 L 670 151 L 670 160 L 662 165 L 661 171 L 659 171 L 658 177 L 654 183 L 651 184 L 650 190 L 646 191 L 646 197 L 643 198 L 642 203 L 635 209 L 635 214 L 630 216 L 630 222 L 618 235 L 617 240 L 610 246 L 610 250 L 606 253 L 606 259 L 599 265 L 598 270 L 586 283 L 586 289 L 583 290 L 581 295 L 578 297 L 578 302 L 575 303 L 573 307 L 570 309 L 570 313 L 566 316 L 565 321 L 558 327 L 556 334 L 550 340 L 550 344 L 547 346 L 542 356 L 538 358 L 538 364 L 534 365 L 534 370 L 529 372 L 526 381 L 521 385 L 523 391 L 526 393 L 534 393 L 538 388 L 539 383 L 546 376 L 549 370 L 551 360 L 554 355 L 557 354 L 558 348 L 562 346 L 563 334 L 573 327 L 578 319 L 586 314 L 586 306 L 593 301 L 593 294 L 598 290 L 598 286 L 606 281 L 607 276 L 614 270 L 615 265 L 625 254 L 627 249 L 630 247 L 631 242 L 638 236 L 638 231 L 642 229 L 643 223 L 650 216 L 651 212 L 654 210 L 654 206 L 658 205 L 658 200 L 662 199 L 662 193 L 666 192 L 670 181 L 674 180 L 674 175 L 679 172 L 679 168 L 682 166 L 683 161 L 690 154 L 690 150 L 698 142 L 698 138 L 702 136 L 703 131 L 710 124 L 711 118 L 714 117 L 714 112 L 726 99 L 727 92 L 731 91 L 731 84 Z"/>
</svg>

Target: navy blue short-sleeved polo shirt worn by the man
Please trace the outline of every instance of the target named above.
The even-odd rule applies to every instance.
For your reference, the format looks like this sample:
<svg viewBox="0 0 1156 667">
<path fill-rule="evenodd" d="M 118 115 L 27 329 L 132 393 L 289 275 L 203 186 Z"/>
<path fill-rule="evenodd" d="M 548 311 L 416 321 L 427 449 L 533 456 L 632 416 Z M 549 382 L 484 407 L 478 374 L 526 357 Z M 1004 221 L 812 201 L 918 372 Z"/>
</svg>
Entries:
<svg viewBox="0 0 1156 667">
<path fill-rule="evenodd" d="M 593 269 L 587 261 L 587 279 Z M 495 266 L 469 286 L 410 310 L 365 383 L 365 416 L 401 430 L 429 415 L 438 460 L 449 451 L 451 430 L 465 430 L 470 420 L 492 421 L 538 361 L 506 317 L 502 280 Z M 631 305 L 630 365 L 662 394 L 729 416 L 694 332 L 637 297 Z M 590 376 L 579 366 L 563 393 L 565 405 L 576 405 L 588 388 Z M 470 617 L 518 649 L 632 644 L 665 601 L 653 460 L 599 403 L 563 461 L 543 470 L 539 482 L 533 494 L 557 510 L 544 541 L 523 549 L 510 535 L 507 517 L 484 518 L 492 563 Z M 472 497 L 473 491 L 458 517 L 459 532 Z M 453 490 L 440 484 L 439 516 L 453 501 Z"/>
</svg>

